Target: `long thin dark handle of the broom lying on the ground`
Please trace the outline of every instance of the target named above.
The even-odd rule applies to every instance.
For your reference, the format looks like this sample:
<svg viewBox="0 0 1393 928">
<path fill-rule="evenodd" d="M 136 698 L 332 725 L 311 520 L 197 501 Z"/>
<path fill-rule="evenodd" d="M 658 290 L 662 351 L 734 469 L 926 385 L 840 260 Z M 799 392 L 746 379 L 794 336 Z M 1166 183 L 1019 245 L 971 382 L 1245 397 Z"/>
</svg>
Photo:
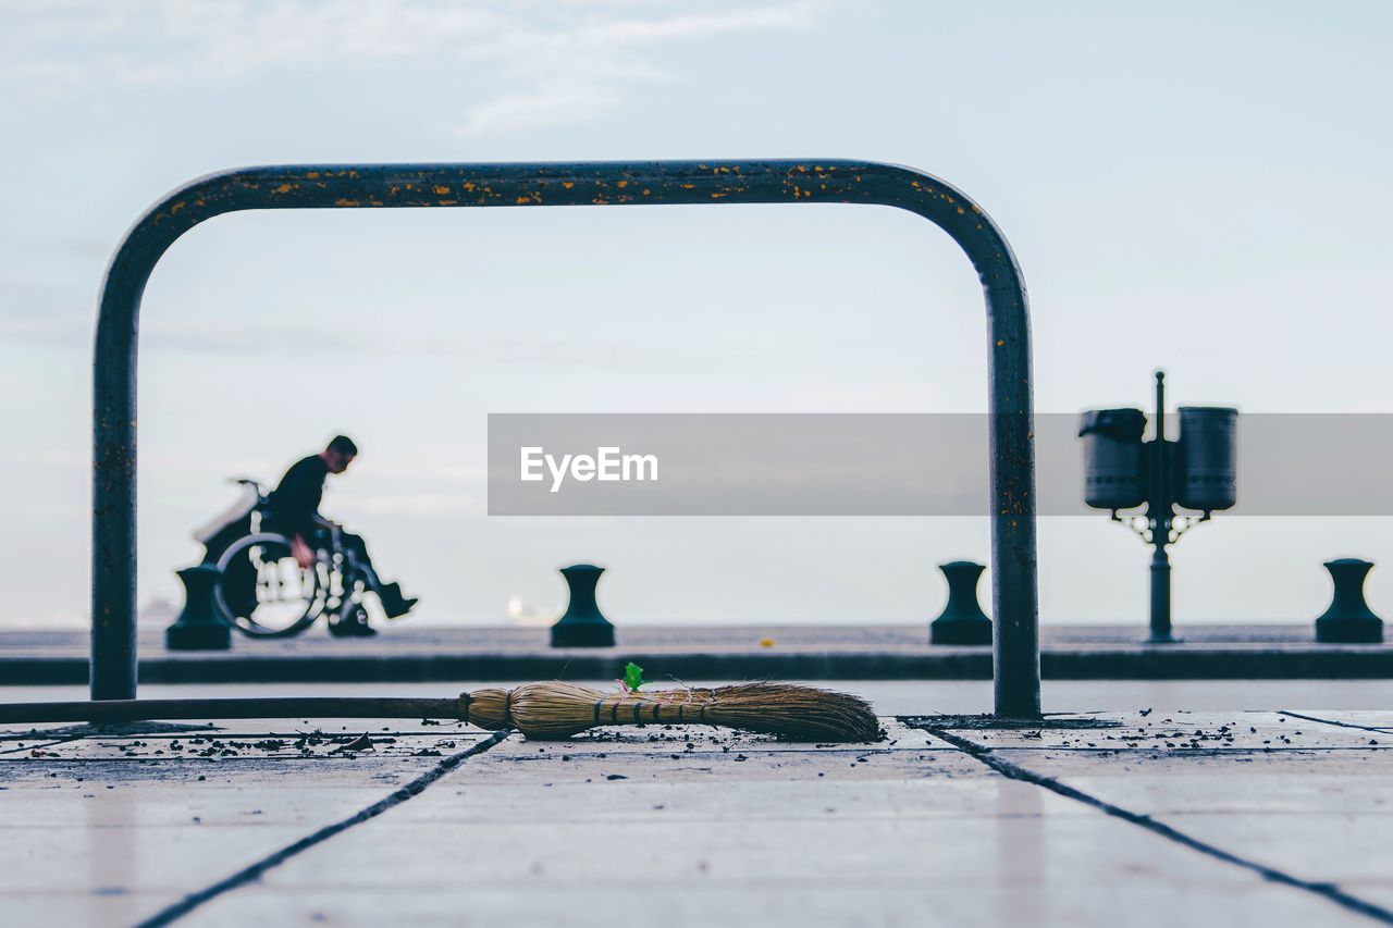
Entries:
<svg viewBox="0 0 1393 928">
<path fill-rule="evenodd" d="M 143 722 L 149 719 L 458 719 L 460 698 L 293 697 L 227 699 L 99 699 L 0 704 L 0 725 Z"/>
</svg>

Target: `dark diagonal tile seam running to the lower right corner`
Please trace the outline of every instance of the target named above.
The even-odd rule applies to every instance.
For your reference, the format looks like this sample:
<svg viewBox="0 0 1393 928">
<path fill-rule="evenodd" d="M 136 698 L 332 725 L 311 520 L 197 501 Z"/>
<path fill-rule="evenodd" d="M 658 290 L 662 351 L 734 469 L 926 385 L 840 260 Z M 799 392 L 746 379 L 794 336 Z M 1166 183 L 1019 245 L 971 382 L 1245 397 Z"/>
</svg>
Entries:
<svg viewBox="0 0 1393 928">
<path fill-rule="evenodd" d="M 1137 825 L 1138 828 L 1144 828 L 1159 837 L 1165 837 L 1166 840 L 1174 842 L 1176 844 L 1181 844 L 1183 847 L 1188 847 L 1190 850 L 1199 851 L 1201 854 L 1206 854 L 1208 857 L 1213 857 L 1215 860 L 1223 861 L 1226 864 L 1233 864 L 1234 867 L 1241 867 L 1244 869 L 1252 871 L 1269 882 L 1305 890 L 1308 893 L 1319 896 L 1321 899 L 1325 899 L 1326 902 L 1334 903 L 1336 906 L 1340 906 L 1341 908 L 1346 908 L 1348 911 L 1365 915 L 1375 921 L 1382 921 L 1383 924 L 1387 925 L 1393 925 L 1393 911 L 1376 906 L 1373 903 L 1365 902 L 1357 896 L 1351 896 L 1350 893 L 1341 890 L 1339 886 L 1333 883 L 1319 883 L 1308 879 L 1301 879 L 1300 876 L 1293 876 L 1291 874 L 1286 874 L 1280 869 L 1265 867 L 1256 861 L 1238 857 L 1237 854 L 1226 851 L 1222 847 L 1209 844 L 1208 842 L 1202 842 L 1198 837 L 1191 837 L 1190 835 L 1185 835 L 1184 832 L 1174 829 L 1170 825 L 1165 825 L 1151 818 L 1149 815 L 1142 815 L 1139 812 L 1133 812 L 1130 810 L 1126 810 L 1120 805 L 1113 805 L 1112 803 L 1100 800 L 1096 796 L 1091 796 L 1088 793 L 1084 793 L 1082 790 L 1077 790 L 1073 786 L 1066 786 L 1059 780 L 1056 780 L 1055 778 L 1035 773 L 1034 771 L 1028 771 L 1024 766 L 995 757 L 992 748 L 983 748 L 975 744 L 974 741 L 970 741 L 957 734 L 951 734 L 944 729 L 924 726 L 924 730 L 928 732 L 929 734 L 943 738 L 949 744 L 953 744 L 963 752 L 968 754 L 981 764 L 985 764 L 986 766 L 992 768 L 1002 776 L 1050 790 L 1052 793 L 1057 793 L 1059 796 L 1063 796 L 1066 798 L 1071 798 L 1077 803 L 1082 803 L 1085 805 L 1096 808 L 1098 811 L 1106 815 L 1112 815 L 1113 818 L 1119 818 L 1131 825 Z"/>
</svg>

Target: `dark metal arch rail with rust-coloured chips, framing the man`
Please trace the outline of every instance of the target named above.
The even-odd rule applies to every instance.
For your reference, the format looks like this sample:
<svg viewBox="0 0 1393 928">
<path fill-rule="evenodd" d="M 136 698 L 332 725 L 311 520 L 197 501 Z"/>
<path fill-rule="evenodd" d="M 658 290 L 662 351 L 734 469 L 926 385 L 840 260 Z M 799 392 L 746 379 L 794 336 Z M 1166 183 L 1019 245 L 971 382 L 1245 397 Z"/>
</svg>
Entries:
<svg viewBox="0 0 1393 928">
<path fill-rule="evenodd" d="M 107 269 L 96 329 L 92 698 L 135 697 L 135 369 L 141 295 L 185 231 L 244 209 L 873 203 L 918 213 L 967 252 L 988 309 L 996 713 L 1041 712 L 1035 449 L 1025 284 L 1006 237 L 954 187 L 853 160 L 325 164 L 192 181 L 146 212 Z"/>
</svg>

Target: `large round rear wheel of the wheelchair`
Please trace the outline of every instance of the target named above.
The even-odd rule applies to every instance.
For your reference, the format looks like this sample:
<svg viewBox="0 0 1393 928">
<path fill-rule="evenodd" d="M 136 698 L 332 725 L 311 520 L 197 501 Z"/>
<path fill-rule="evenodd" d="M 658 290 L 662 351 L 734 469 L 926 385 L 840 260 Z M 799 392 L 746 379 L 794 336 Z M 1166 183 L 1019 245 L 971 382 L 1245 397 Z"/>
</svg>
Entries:
<svg viewBox="0 0 1393 928">
<path fill-rule="evenodd" d="M 297 635 L 325 610 L 329 566 L 301 570 L 284 535 L 238 538 L 217 559 L 213 599 L 223 621 L 258 638 Z"/>
</svg>

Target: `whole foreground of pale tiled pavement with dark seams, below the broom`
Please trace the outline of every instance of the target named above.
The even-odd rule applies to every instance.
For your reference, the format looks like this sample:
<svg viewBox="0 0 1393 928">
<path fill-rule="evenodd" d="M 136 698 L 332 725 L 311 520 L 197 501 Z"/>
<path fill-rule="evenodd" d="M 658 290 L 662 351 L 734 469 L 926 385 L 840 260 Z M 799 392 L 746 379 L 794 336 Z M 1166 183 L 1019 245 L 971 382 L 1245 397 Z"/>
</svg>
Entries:
<svg viewBox="0 0 1393 928">
<path fill-rule="evenodd" d="M 978 722 L 886 718 L 887 741 L 851 747 L 710 729 L 539 744 L 348 719 L 11 727 L 0 911 L 7 925 L 1393 921 L 1393 712 Z"/>
</svg>

